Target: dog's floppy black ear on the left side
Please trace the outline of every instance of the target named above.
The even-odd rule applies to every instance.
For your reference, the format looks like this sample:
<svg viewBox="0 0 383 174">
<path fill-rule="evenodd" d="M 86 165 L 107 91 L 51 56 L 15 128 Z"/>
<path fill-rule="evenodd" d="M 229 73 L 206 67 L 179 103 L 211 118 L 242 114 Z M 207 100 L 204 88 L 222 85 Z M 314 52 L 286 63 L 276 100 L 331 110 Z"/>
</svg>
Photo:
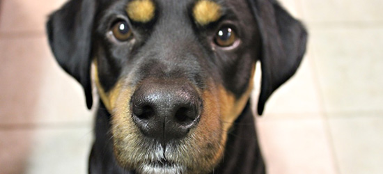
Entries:
<svg viewBox="0 0 383 174">
<path fill-rule="evenodd" d="M 88 109 L 93 103 L 90 69 L 94 13 L 94 0 L 68 1 L 49 16 L 46 26 L 58 64 L 83 86 Z"/>
</svg>

